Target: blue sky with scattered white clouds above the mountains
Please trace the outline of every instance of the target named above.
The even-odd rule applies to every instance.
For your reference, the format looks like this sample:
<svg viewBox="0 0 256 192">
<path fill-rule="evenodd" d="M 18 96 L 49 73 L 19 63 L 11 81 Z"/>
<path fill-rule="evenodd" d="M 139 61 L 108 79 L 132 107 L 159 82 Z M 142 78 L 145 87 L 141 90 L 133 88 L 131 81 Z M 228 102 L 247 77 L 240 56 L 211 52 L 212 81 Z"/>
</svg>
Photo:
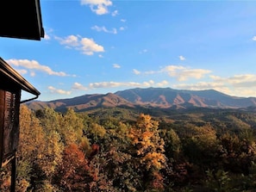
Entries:
<svg viewBox="0 0 256 192">
<path fill-rule="evenodd" d="M 41 101 L 137 87 L 256 96 L 255 9 L 255 1 L 41 0 L 45 37 L 0 38 L 0 53 Z"/>
</svg>

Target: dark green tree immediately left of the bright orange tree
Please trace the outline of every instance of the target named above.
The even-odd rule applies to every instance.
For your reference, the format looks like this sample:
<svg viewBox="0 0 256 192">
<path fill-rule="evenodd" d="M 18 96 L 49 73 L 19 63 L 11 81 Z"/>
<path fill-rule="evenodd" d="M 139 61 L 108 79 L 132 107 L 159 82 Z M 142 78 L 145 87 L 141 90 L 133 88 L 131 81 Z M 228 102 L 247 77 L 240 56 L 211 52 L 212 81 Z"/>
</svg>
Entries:
<svg viewBox="0 0 256 192">
<path fill-rule="evenodd" d="M 92 191 L 136 191 L 139 179 L 128 151 L 131 146 L 128 125 L 122 122 L 109 124 L 115 127 L 106 127 L 105 136 L 99 143 L 100 150 L 97 154 L 93 152 L 94 156 L 90 158 L 94 173 Z"/>
</svg>

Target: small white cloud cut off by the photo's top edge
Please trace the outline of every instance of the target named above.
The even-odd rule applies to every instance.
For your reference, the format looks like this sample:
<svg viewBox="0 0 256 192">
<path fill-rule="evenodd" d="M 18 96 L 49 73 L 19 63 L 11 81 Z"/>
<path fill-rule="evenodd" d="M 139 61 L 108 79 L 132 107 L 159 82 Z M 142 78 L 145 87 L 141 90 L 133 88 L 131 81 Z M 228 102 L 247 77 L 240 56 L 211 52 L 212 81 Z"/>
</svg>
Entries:
<svg viewBox="0 0 256 192">
<path fill-rule="evenodd" d="M 109 13 L 108 7 L 112 5 L 110 0 L 81 0 L 82 5 L 89 5 L 97 15 Z"/>
</svg>

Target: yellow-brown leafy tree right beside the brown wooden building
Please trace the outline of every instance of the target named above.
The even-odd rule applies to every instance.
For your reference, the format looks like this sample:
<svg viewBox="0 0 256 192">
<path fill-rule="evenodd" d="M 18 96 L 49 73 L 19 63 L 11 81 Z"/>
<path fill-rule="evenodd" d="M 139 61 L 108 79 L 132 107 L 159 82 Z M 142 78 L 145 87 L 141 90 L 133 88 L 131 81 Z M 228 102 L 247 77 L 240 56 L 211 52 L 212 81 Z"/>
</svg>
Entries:
<svg viewBox="0 0 256 192">
<path fill-rule="evenodd" d="M 50 181 L 56 165 L 62 160 L 63 145 L 59 141 L 59 133 L 47 129 L 46 124 L 41 123 L 26 105 L 21 106 L 17 191 L 53 189 Z"/>
</svg>

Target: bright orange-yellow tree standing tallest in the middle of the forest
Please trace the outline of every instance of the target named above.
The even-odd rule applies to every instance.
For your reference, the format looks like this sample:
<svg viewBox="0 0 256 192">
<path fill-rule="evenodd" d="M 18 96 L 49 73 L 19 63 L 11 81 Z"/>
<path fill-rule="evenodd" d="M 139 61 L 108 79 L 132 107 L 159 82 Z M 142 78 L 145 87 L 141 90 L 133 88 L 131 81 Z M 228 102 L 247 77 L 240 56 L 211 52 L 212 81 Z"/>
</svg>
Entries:
<svg viewBox="0 0 256 192">
<path fill-rule="evenodd" d="M 134 146 L 135 168 L 141 170 L 145 186 L 143 189 L 163 189 L 161 169 L 165 168 L 165 142 L 159 135 L 159 122 L 150 115 L 140 114 L 129 137 Z"/>
</svg>

